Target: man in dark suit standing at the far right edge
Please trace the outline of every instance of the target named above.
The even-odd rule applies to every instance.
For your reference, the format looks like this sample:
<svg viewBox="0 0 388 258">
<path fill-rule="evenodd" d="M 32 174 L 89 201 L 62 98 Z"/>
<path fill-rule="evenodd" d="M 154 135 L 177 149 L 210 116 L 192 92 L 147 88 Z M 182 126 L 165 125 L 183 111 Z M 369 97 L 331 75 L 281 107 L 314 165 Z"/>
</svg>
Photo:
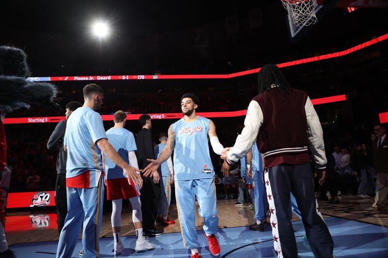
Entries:
<svg viewBox="0 0 388 258">
<path fill-rule="evenodd" d="M 373 168 L 377 173 L 377 187 L 379 198 L 375 207 L 370 207 L 367 210 L 383 210 L 387 205 L 388 197 L 388 138 L 386 128 L 382 124 L 374 126 L 376 140 L 372 143 L 373 151 Z"/>
</svg>

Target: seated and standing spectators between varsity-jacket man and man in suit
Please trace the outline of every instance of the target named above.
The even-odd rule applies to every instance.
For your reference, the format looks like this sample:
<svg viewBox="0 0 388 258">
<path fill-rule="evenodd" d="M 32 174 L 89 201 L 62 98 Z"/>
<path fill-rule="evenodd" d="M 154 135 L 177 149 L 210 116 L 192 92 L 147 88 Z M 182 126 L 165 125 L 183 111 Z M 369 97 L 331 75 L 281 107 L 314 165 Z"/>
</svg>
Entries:
<svg viewBox="0 0 388 258">
<path fill-rule="evenodd" d="M 322 185 L 316 184 L 316 190 L 321 192 L 318 199 L 338 204 L 338 196 L 342 194 L 374 197 L 376 173 L 373 169 L 372 141 L 376 136 L 366 131 L 362 134 L 359 129 L 354 135 L 357 135 L 356 139 L 346 133 L 330 145 L 326 144 L 327 180 Z"/>
</svg>

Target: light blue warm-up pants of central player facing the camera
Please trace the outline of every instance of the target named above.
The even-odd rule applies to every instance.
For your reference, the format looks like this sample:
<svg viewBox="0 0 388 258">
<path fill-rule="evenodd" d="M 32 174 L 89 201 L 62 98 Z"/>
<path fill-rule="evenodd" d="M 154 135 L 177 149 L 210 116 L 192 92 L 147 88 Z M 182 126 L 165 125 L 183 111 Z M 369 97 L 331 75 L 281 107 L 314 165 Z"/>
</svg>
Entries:
<svg viewBox="0 0 388 258">
<path fill-rule="evenodd" d="M 198 248 L 200 244 L 195 229 L 195 196 L 199 204 L 199 215 L 204 220 L 203 230 L 208 235 L 218 231 L 214 178 L 175 181 L 175 195 L 183 245 L 187 249 Z"/>
</svg>

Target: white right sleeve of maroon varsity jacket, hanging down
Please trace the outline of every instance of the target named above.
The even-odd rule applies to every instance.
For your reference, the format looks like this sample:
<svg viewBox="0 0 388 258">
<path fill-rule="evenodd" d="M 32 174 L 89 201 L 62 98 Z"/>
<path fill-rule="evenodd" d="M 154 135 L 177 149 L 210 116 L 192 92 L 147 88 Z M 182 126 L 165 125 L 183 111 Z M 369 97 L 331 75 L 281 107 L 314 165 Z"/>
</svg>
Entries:
<svg viewBox="0 0 388 258">
<path fill-rule="evenodd" d="M 307 118 L 308 144 L 311 153 L 314 155 L 315 167 L 318 169 L 325 169 L 327 160 L 324 152 L 322 126 L 309 97 L 307 97 L 305 111 Z"/>
</svg>

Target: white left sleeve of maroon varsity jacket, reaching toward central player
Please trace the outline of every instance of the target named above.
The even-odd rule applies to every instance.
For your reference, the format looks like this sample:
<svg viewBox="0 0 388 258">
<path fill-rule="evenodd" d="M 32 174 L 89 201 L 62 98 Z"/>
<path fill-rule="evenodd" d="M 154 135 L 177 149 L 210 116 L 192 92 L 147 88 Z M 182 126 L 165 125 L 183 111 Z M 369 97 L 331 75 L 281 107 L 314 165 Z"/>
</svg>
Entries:
<svg viewBox="0 0 388 258">
<path fill-rule="evenodd" d="M 259 129 L 263 123 L 263 112 L 257 101 L 249 103 L 248 111 L 244 120 L 244 128 L 234 143 L 234 146 L 227 152 L 226 161 L 229 164 L 236 163 L 246 155 L 255 143 Z"/>
</svg>

